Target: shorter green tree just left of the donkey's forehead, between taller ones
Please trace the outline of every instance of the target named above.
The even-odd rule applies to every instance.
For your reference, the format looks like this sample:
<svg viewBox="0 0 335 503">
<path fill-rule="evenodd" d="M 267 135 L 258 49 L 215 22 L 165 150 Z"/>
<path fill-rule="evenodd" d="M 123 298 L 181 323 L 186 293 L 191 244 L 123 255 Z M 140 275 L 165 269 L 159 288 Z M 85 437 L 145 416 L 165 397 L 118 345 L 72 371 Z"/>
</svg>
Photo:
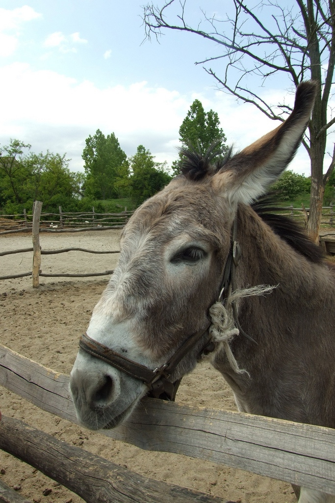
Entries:
<svg viewBox="0 0 335 503">
<path fill-rule="evenodd" d="M 130 158 L 132 175 L 130 178 L 131 196 L 137 205 L 160 191 L 172 177 L 166 172 L 166 163 L 154 161 L 150 150 L 143 145 Z"/>
</svg>

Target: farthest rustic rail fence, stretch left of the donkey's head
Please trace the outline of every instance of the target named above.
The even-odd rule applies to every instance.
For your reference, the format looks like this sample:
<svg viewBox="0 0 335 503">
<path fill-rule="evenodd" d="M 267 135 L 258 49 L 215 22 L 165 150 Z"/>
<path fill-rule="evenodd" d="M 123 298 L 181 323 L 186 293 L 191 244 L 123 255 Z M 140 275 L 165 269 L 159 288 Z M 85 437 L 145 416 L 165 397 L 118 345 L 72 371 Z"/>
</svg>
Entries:
<svg viewBox="0 0 335 503">
<path fill-rule="evenodd" d="M 35 205 L 35 203 L 34 203 Z M 33 226 L 33 214 L 0 215 L 0 234 L 15 232 L 29 232 Z M 118 229 L 123 227 L 133 211 L 125 210 L 120 213 L 96 213 L 92 211 L 63 212 L 59 206 L 59 213 L 41 213 L 41 232 L 80 232 L 83 230 Z"/>
</svg>

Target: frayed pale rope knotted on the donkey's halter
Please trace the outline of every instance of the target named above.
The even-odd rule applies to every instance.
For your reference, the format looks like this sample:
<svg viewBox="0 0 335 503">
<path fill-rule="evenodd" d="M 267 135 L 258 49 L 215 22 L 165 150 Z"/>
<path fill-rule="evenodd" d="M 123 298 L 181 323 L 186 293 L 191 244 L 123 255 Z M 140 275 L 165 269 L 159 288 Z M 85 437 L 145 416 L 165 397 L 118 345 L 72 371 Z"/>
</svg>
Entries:
<svg viewBox="0 0 335 503">
<path fill-rule="evenodd" d="M 215 302 L 209 309 L 209 315 L 212 321 L 209 327 L 209 333 L 212 336 L 212 341 L 218 343 L 215 354 L 220 350 L 224 350 L 232 369 L 238 374 L 249 375 L 246 370 L 240 369 L 229 344 L 234 336 L 238 336 L 240 333 L 240 330 L 235 326 L 232 302 L 252 295 L 266 295 L 271 293 L 275 288 L 277 287 L 258 285 L 251 288 L 238 289 L 232 292 L 226 299 L 227 308 L 221 304 L 221 302 Z"/>
</svg>

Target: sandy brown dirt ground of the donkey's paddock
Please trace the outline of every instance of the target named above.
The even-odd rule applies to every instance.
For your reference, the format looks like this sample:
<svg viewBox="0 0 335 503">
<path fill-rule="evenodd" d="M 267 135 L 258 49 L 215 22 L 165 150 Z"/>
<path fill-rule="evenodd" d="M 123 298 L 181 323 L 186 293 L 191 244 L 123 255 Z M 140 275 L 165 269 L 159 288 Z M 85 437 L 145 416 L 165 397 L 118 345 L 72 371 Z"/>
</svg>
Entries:
<svg viewBox="0 0 335 503">
<path fill-rule="evenodd" d="M 119 249 L 120 231 L 41 234 L 42 249 L 77 246 L 96 250 Z M 32 246 L 31 235 L 0 236 L 0 251 Z M 53 273 L 102 272 L 114 269 L 118 255 L 90 255 L 79 251 L 42 256 L 42 271 Z M 31 270 L 32 253 L 1 257 L 0 275 Z M 80 334 L 108 277 L 93 279 L 41 278 L 0 281 L 0 342 L 43 365 L 70 373 Z M 200 396 L 200 400 L 198 398 Z M 232 392 L 208 363 L 186 376 L 177 402 L 236 410 Z M 293 503 L 289 484 L 223 465 L 168 453 L 142 451 L 96 432 L 90 432 L 44 412 L 0 386 L 0 410 L 60 440 L 81 446 L 146 477 L 178 484 L 242 503 Z M 171 470 L 173 466 L 173 470 Z M 79 503 L 83 500 L 31 466 L 0 451 L 0 477 L 35 503 Z M 44 495 L 45 489 L 52 489 Z M 47 491 L 48 492 L 48 491 Z"/>
</svg>

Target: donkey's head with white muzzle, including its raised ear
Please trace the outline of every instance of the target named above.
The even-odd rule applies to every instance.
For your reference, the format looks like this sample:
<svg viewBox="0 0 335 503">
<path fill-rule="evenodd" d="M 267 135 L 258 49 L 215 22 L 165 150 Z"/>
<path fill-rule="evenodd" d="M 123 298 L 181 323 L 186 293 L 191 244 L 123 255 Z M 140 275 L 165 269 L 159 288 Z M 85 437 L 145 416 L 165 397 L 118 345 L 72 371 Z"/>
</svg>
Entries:
<svg viewBox="0 0 335 503">
<path fill-rule="evenodd" d="M 136 210 L 121 237 L 117 269 L 94 308 L 87 335 L 148 369 L 160 368 L 195 332 L 200 337 L 173 371 L 192 370 L 208 337 L 238 204 L 264 194 L 294 156 L 309 122 L 315 86 L 297 88 L 292 114 L 233 157 L 187 153 L 183 174 Z M 142 380 L 79 350 L 70 390 L 90 429 L 125 420 L 148 392 Z"/>
</svg>

